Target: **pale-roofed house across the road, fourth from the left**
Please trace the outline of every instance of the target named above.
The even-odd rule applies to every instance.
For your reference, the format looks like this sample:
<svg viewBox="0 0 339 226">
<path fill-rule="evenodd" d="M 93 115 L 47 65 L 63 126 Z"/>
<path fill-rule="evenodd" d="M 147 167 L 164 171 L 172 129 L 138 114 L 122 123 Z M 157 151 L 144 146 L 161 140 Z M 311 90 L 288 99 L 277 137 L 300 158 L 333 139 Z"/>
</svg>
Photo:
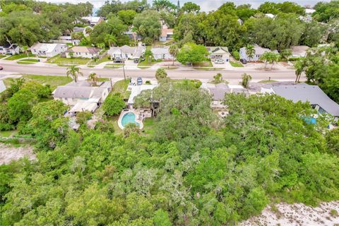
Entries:
<svg viewBox="0 0 339 226">
<path fill-rule="evenodd" d="M 138 47 L 130 47 L 128 45 L 110 47 L 107 54 L 111 59 L 140 59 L 145 51 L 145 46 L 140 42 Z"/>
</svg>

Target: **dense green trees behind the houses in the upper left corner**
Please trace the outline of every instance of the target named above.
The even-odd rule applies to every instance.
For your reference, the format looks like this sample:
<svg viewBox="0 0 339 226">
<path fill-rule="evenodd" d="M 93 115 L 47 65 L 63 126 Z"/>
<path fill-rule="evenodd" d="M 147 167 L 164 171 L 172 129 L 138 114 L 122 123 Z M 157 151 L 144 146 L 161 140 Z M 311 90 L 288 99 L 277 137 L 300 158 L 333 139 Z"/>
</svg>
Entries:
<svg viewBox="0 0 339 226">
<path fill-rule="evenodd" d="M 41 1 L 1 1 L 0 44 L 7 40 L 31 46 L 70 33 L 81 17 L 92 13 L 89 2 L 48 4 Z"/>
</svg>

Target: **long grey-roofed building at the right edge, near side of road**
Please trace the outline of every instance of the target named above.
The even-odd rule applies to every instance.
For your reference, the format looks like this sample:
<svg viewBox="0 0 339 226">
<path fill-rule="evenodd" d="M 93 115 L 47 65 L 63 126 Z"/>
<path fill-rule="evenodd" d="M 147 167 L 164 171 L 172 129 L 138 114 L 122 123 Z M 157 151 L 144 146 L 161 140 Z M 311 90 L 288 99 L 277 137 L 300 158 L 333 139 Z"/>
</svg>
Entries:
<svg viewBox="0 0 339 226">
<path fill-rule="evenodd" d="M 273 93 L 292 102 L 309 102 L 320 114 L 328 113 L 335 121 L 339 118 L 339 105 L 331 100 L 318 85 L 278 85 L 270 88 L 269 92 L 261 90 L 261 93 Z"/>
</svg>

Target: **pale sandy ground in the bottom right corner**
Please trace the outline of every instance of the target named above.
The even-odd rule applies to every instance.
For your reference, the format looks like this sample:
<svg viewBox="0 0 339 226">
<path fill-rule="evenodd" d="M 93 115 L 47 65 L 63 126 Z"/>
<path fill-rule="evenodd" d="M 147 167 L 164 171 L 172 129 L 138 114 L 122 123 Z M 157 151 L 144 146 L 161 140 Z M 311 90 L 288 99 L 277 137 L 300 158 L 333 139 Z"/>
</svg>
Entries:
<svg viewBox="0 0 339 226">
<path fill-rule="evenodd" d="M 336 210 L 339 213 L 339 201 L 321 203 L 321 205 L 316 208 L 305 206 L 302 203 L 279 203 L 275 204 L 275 208 L 273 209 L 267 206 L 261 215 L 240 222 L 239 225 L 339 225 L 339 216 L 331 215 L 331 210 Z"/>
</svg>

